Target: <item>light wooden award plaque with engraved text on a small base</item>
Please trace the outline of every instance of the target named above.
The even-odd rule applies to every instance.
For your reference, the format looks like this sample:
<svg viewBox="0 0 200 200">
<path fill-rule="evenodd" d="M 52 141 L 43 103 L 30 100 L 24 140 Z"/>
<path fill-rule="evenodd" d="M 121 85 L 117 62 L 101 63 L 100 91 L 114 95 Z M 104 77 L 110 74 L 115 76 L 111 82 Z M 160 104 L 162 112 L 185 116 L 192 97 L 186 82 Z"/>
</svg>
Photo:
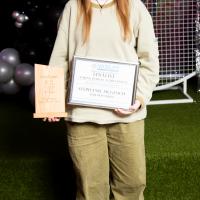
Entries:
<svg viewBox="0 0 200 200">
<path fill-rule="evenodd" d="M 35 64 L 35 113 L 33 117 L 67 117 L 63 68 Z"/>
</svg>

